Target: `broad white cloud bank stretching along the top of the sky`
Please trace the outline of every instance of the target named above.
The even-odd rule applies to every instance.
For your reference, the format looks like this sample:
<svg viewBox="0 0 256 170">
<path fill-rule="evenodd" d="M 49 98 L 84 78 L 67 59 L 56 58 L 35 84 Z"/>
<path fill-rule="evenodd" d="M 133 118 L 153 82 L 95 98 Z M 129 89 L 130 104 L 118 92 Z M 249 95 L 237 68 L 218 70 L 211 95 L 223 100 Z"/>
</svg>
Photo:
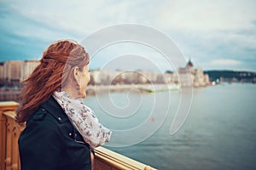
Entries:
<svg viewBox="0 0 256 170">
<path fill-rule="evenodd" d="M 120 23 L 196 34 L 255 27 L 253 1 L 15 1 L 9 10 L 56 30 L 87 36 Z M 140 8 L 138 8 L 140 7 Z M 209 33 L 209 32 L 208 32 Z"/>
</svg>

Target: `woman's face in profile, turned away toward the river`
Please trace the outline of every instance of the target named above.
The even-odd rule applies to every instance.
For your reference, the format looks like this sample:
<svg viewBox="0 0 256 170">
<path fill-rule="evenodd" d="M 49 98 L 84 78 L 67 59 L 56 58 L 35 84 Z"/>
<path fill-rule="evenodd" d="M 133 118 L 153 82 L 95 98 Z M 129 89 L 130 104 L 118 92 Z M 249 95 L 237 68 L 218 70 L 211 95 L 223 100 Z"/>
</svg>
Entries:
<svg viewBox="0 0 256 170">
<path fill-rule="evenodd" d="M 90 68 L 89 65 L 85 65 L 83 71 L 79 71 L 79 86 L 82 98 L 86 97 L 87 84 L 90 82 Z"/>
</svg>

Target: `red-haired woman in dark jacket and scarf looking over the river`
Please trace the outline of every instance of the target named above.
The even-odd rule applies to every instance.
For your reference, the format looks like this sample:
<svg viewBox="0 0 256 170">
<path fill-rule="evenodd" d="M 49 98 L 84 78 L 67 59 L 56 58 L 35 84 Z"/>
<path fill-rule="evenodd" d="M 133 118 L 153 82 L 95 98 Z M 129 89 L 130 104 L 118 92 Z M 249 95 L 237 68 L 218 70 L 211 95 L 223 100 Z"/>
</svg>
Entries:
<svg viewBox="0 0 256 170">
<path fill-rule="evenodd" d="M 22 170 L 91 169 L 90 152 L 108 142 L 111 131 L 80 100 L 90 82 L 89 54 L 62 40 L 44 51 L 24 82 L 16 122 Z"/>
</svg>

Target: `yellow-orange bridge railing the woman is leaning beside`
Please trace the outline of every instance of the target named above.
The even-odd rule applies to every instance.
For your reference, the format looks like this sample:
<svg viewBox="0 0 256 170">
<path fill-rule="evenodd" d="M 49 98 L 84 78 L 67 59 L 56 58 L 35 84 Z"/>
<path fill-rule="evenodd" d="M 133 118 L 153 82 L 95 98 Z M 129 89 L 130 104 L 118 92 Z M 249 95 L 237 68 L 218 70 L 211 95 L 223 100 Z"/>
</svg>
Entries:
<svg viewBox="0 0 256 170">
<path fill-rule="evenodd" d="M 23 127 L 15 122 L 15 109 L 19 106 L 16 102 L 0 102 L 0 169 L 20 170 L 20 157 L 18 139 Z M 154 170 L 141 162 L 122 156 L 112 150 L 97 147 L 94 169 L 144 169 Z"/>
</svg>

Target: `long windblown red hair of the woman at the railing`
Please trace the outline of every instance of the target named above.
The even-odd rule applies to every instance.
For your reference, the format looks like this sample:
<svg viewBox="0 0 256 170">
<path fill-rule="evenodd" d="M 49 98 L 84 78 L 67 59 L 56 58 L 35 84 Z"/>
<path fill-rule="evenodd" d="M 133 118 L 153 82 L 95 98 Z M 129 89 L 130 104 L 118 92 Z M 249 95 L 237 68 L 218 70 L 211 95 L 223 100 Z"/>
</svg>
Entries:
<svg viewBox="0 0 256 170">
<path fill-rule="evenodd" d="M 38 67 L 22 82 L 21 103 L 16 111 L 16 122 L 20 125 L 26 122 L 39 105 L 49 99 L 52 93 L 65 87 L 68 81 L 78 88 L 73 69 L 77 66 L 83 71 L 88 64 L 89 54 L 78 42 L 61 40 L 49 45 Z"/>
</svg>

